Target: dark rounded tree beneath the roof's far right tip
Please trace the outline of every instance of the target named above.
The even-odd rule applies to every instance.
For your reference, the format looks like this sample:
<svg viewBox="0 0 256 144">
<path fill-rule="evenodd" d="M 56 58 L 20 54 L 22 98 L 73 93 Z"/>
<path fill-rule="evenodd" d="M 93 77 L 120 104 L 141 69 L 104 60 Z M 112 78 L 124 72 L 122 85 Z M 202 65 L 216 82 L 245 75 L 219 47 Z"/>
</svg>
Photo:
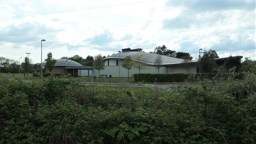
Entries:
<svg viewBox="0 0 256 144">
<path fill-rule="evenodd" d="M 238 70 L 241 68 L 241 58 L 242 57 L 228 57 L 226 62 L 224 63 L 224 66 L 226 70 L 228 71 L 230 68 L 236 67 L 235 72 L 238 72 Z"/>
</svg>

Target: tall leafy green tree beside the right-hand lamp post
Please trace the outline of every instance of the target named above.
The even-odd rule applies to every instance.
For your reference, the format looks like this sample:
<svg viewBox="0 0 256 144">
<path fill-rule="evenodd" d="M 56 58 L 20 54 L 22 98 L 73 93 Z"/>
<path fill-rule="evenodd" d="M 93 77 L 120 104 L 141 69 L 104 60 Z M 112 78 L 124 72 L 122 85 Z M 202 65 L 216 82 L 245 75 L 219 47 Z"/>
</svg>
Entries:
<svg viewBox="0 0 256 144">
<path fill-rule="evenodd" d="M 216 53 L 216 51 L 212 49 L 208 51 L 205 50 L 202 58 L 199 55 L 201 72 L 205 72 L 205 73 L 213 72 L 214 68 L 217 67 L 217 64 L 214 58 L 219 58 L 219 56 Z"/>
</svg>

